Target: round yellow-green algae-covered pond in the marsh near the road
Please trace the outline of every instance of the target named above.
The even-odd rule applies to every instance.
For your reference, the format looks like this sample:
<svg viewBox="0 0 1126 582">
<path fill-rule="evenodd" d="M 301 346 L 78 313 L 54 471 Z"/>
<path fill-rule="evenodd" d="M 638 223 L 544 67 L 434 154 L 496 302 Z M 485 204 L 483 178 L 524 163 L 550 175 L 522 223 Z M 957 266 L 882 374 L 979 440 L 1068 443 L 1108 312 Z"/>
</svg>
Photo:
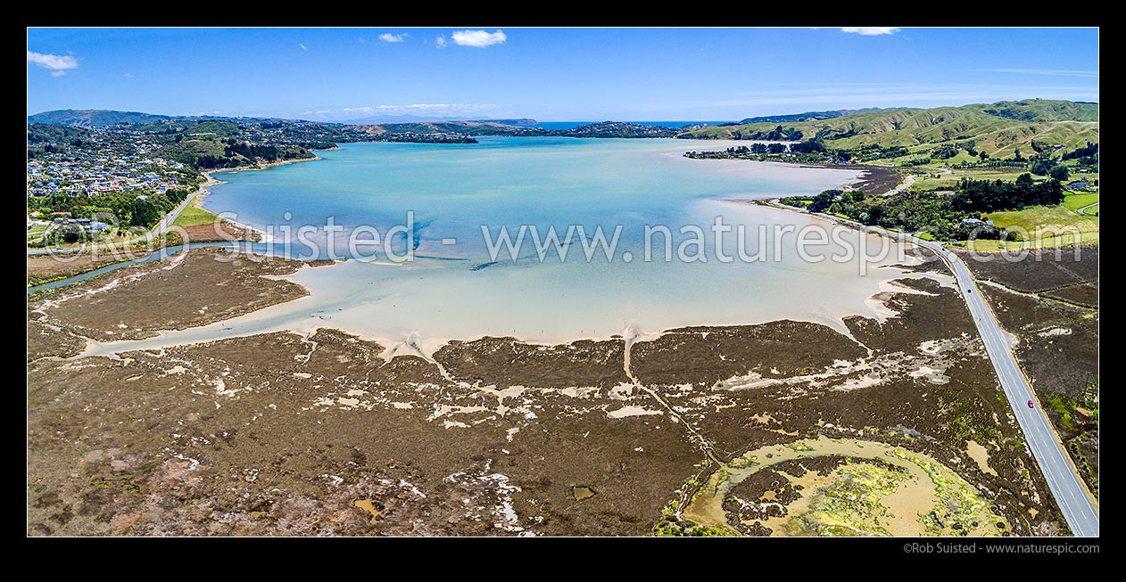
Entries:
<svg viewBox="0 0 1126 582">
<path fill-rule="evenodd" d="M 683 511 L 701 526 L 772 536 L 990 536 L 992 503 L 935 458 L 819 437 L 747 451 L 715 471 Z"/>
</svg>

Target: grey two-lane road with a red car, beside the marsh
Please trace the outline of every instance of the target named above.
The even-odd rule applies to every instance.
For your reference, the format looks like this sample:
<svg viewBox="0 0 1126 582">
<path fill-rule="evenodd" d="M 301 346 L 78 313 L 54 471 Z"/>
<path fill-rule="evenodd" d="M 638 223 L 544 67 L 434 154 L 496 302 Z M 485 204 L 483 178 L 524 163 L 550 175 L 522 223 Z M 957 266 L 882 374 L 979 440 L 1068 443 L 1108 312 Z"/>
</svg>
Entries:
<svg viewBox="0 0 1126 582">
<path fill-rule="evenodd" d="M 1060 504 L 1067 526 L 1076 536 L 1098 536 L 1099 514 L 1094 511 L 1087 490 L 1072 469 L 1067 453 L 1060 446 L 1055 433 L 1048 426 L 1047 415 L 1038 408 L 1029 409 L 1028 401 L 1035 400 L 1033 391 L 1017 365 L 1017 359 L 1009 349 L 1006 333 L 993 319 L 993 312 L 985 305 L 985 299 L 974 285 L 974 277 L 956 254 L 942 248 L 941 244 L 915 240 L 919 244 L 939 253 L 954 270 L 962 296 L 966 299 L 969 313 L 977 325 L 977 332 L 985 343 L 993 369 L 1001 380 L 1001 387 L 1009 399 L 1025 440 L 1033 456 L 1040 466 L 1040 473 L 1048 483 L 1052 494 Z"/>
</svg>

